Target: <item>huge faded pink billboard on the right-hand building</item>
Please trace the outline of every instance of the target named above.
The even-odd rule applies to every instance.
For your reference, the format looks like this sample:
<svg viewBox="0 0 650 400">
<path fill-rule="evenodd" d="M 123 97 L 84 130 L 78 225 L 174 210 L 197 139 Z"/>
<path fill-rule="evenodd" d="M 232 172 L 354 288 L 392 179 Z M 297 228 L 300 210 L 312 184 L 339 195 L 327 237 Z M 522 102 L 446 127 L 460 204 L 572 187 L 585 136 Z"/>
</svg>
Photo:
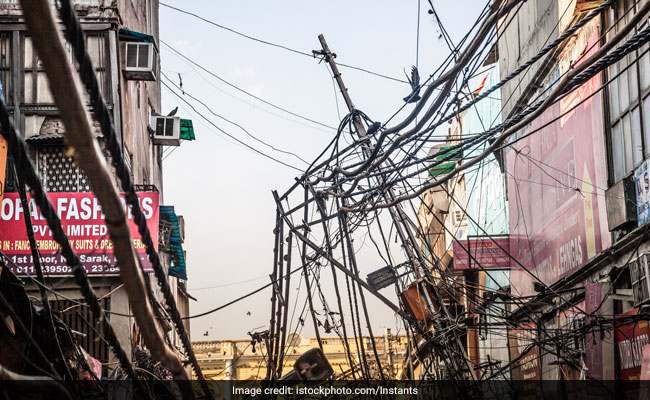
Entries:
<svg viewBox="0 0 650 400">
<path fill-rule="evenodd" d="M 610 245 L 600 189 L 607 187 L 606 163 L 596 162 L 605 159 L 599 86 L 595 76 L 552 105 L 507 153 L 510 252 L 518 261 L 511 282 L 518 295 L 535 294 L 537 279 L 552 285 Z"/>
</svg>

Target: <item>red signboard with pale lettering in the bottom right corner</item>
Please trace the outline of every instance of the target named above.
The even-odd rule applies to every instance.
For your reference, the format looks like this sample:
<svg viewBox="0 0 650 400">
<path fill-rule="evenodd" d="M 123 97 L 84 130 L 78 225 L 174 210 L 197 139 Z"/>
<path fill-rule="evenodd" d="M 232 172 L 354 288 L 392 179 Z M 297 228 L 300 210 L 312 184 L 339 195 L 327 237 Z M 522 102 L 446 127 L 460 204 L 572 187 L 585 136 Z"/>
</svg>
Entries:
<svg viewBox="0 0 650 400">
<path fill-rule="evenodd" d="M 622 316 L 636 315 L 637 309 Z M 650 344 L 648 321 L 629 322 L 620 320 L 616 324 L 616 352 L 621 373 L 625 381 L 639 380 L 643 364 L 643 348 Z"/>
</svg>

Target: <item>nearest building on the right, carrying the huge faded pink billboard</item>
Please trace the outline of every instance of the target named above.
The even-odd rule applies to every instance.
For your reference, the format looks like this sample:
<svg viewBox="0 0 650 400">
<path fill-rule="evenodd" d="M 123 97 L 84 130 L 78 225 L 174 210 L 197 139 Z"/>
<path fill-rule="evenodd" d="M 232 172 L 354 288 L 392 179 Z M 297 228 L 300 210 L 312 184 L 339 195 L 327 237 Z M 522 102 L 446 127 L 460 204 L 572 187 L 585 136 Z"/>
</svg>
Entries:
<svg viewBox="0 0 650 400">
<path fill-rule="evenodd" d="M 524 3 L 512 23 L 501 25 L 501 76 L 602 3 Z M 547 96 L 645 3 L 615 1 L 521 80 L 504 85 L 504 118 Z M 627 37 L 645 26 L 647 16 Z M 505 150 L 510 252 L 518 261 L 511 271 L 511 293 L 533 296 L 530 308 L 512 309 L 512 320 L 520 324 L 509 331 L 511 358 L 520 360 L 512 368 L 515 379 L 639 379 L 640 357 L 625 349 L 647 342 L 648 323 L 621 318 L 636 314 L 648 301 L 646 48 L 552 105 Z M 553 305 L 540 305 L 549 301 Z M 605 315 L 614 316 L 614 322 L 599 319 Z M 598 322 L 590 326 L 594 319 Z M 555 348 L 526 348 L 544 342 Z"/>
</svg>

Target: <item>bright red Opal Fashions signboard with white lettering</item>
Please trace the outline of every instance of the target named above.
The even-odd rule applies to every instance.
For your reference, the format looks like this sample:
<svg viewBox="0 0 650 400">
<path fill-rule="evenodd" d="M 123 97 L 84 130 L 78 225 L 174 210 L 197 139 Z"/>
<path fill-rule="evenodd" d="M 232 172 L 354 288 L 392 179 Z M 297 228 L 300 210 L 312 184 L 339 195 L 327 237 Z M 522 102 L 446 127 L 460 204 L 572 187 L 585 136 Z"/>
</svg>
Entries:
<svg viewBox="0 0 650 400">
<path fill-rule="evenodd" d="M 158 192 L 137 194 L 140 208 L 147 220 L 147 226 L 154 244 L 158 245 Z M 119 267 L 113 254 L 113 243 L 104 223 L 104 214 L 97 197 L 93 193 L 48 193 L 48 198 L 61 219 L 63 230 L 74 251 L 89 274 L 116 274 Z M 58 244 L 45 218 L 29 199 L 29 209 L 34 225 L 34 235 L 39 247 L 41 266 L 46 275 L 70 274 L 71 268 L 61 255 Z M 130 207 L 126 206 L 124 195 L 122 204 L 127 214 L 133 245 L 142 262 L 145 272 L 152 271 L 151 262 L 145 252 L 144 244 L 133 222 Z M 6 193 L 0 207 L 0 250 L 9 258 L 8 266 L 19 275 L 33 275 L 32 258 L 22 203 L 17 193 Z"/>
</svg>

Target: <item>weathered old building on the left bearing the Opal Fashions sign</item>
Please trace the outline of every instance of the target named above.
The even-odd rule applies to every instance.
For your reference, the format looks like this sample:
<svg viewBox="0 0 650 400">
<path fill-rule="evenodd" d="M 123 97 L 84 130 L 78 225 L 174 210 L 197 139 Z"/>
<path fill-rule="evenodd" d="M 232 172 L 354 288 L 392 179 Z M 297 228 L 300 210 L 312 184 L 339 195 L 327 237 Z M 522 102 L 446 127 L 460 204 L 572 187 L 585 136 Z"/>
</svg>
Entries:
<svg viewBox="0 0 650 400">
<path fill-rule="evenodd" d="M 154 239 L 159 238 L 162 262 L 170 269 L 169 283 L 177 296 L 182 315 L 189 313 L 189 295 L 185 289 L 185 254 L 182 251 L 184 224 L 182 218 L 175 214 L 173 207 L 163 210 L 164 204 L 162 179 L 163 145 L 156 142 L 156 126 L 151 126 L 151 117 L 166 115 L 161 110 L 160 57 L 158 54 L 158 1 L 157 0 L 84 0 L 75 1 L 75 11 L 86 33 L 86 46 L 106 104 L 112 112 L 112 120 L 122 147 L 123 157 L 136 185 L 136 191 L 142 201 L 142 208 L 149 221 L 149 230 Z M 70 215 L 72 203 L 75 207 L 93 202 L 88 181 L 80 168 L 74 163 L 73 152 L 69 151 L 63 140 L 63 126 L 52 95 L 49 91 L 47 76 L 33 49 L 29 32 L 21 17 L 18 2 L 0 1 L 0 80 L 5 101 L 13 113 L 13 122 L 20 129 L 32 154 L 37 171 L 45 189 L 52 193 L 55 206 L 62 215 L 62 222 L 73 247 L 82 256 L 82 261 L 91 285 L 101 296 L 106 310 L 111 312 L 110 322 L 115 328 L 120 344 L 131 356 L 136 345 L 140 343 L 139 332 L 130 315 L 126 292 L 122 288 L 112 257 L 111 245 L 105 239 L 101 225 L 102 214 L 93 214 L 96 230 L 85 229 L 83 216 Z M 70 50 L 72 51 L 72 50 Z M 72 60 L 72 56 L 70 58 Z M 98 140 L 103 147 L 102 138 L 97 128 Z M 106 153 L 106 151 L 105 151 Z M 6 194 L 3 207 L 11 207 L 17 199 L 14 173 L 7 168 Z M 54 201 L 56 200 L 56 201 Z M 18 203 L 16 210 L 18 210 Z M 95 204 L 95 203 L 92 203 Z M 61 207 L 63 206 L 63 208 Z M 148 208 L 147 208 L 148 207 Z M 68 214 L 64 211 L 67 209 Z M 9 208 L 5 208 L 7 213 Z M 35 210 L 34 210 L 35 211 Z M 33 212 L 34 212 L 33 211 Z M 93 209 L 94 211 L 94 209 Z M 3 223 L 6 223 L 3 212 Z M 66 219 L 66 215 L 69 219 Z M 21 217 L 16 212 L 16 220 Z M 35 225 L 43 221 L 34 218 Z M 21 230 L 16 229 L 17 232 Z M 24 227 L 22 228 L 24 233 Z M 133 228 L 132 236 L 137 239 Z M 98 235 L 99 234 L 99 235 Z M 40 235 L 40 236 L 39 236 Z M 171 238 L 171 239 L 170 239 Z M 9 253 L 12 261 L 10 267 L 19 276 L 33 274 L 33 264 L 27 258 L 14 255 L 18 246 L 12 240 L 20 242 L 22 237 L 6 238 L 8 246 L 3 251 Z M 37 240 L 48 239 L 43 230 L 37 233 Z M 173 246 L 170 245 L 170 240 Z M 3 242 L 4 243 L 4 242 Z M 45 243 L 45 242 L 44 242 Z M 81 244 L 85 243 L 84 246 Z M 134 242 L 145 271 L 147 259 L 142 243 Z M 175 247 L 174 247 L 175 246 Z M 27 249 L 23 249 L 27 250 Z M 56 282 L 57 294 L 51 293 L 52 308 L 58 310 L 60 317 L 78 332 L 86 351 L 107 366 L 115 365 L 107 343 L 102 339 L 100 326 L 92 326 L 89 311 L 75 301 L 82 297 L 69 276 L 61 259 L 56 259 L 56 249 L 41 247 L 41 256 L 52 254 L 52 262 L 43 263 L 48 282 Z M 17 253 L 16 253 L 17 254 Z M 24 253 L 29 254 L 29 253 Z M 24 262 L 25 261 L 25 262 Z M 94 264 L 93 264 L 94 263 Z M 119 267 L 118 267 L 119 268 Z M 161 293 L 155 278 L 146 274 L 152 281 L 155 295 L 161 303 Z M 36 287 L 31 285 L 31 291 Z M 66 299 L 67 298 L 67 299 Z M 160 305 L 158 314 L 166 315 L 164 306 Z M 180 342 L 170 324 L 163 324 L 167 329 L 172 344 Z M 186 329 L 189 331 L 189 324 Z M 111 368 L 105 367 L 103 374 L 111 374 Z"/>
</svg>

